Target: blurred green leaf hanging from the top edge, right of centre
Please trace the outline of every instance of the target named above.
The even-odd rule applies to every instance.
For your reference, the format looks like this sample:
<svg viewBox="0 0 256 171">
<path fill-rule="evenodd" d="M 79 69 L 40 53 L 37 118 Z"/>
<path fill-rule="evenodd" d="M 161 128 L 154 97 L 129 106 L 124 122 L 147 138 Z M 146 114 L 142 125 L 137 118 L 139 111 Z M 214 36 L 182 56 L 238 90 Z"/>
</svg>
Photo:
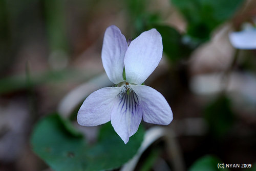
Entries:
<svg viewBox="0 0 256 171">
<path fill-rule="evenodd" d="M 188 22 L 187 34 L 197 41 L 209 39 L 218 25 L 236 12 L 243 0 L 170 0 Z"/>
</svg>

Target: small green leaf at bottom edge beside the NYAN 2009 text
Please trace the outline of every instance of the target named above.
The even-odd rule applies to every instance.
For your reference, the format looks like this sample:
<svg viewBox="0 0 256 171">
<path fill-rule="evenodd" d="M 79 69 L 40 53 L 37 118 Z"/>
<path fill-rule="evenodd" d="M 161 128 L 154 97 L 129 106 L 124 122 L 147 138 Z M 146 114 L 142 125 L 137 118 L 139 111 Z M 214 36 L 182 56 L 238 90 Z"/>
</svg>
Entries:
<svg viewBox="0 0 256 171">
<path fill-rule="evenodd" d="M 223 163 L 220 159 L 214 156 L 204 156 L 196 160 L 191 167 L 188 169 L 189 171 L 215 171 L 218 170 L 218 163 Z M 221 170 L 228 170 L 224 168 Z"/>
</svg>

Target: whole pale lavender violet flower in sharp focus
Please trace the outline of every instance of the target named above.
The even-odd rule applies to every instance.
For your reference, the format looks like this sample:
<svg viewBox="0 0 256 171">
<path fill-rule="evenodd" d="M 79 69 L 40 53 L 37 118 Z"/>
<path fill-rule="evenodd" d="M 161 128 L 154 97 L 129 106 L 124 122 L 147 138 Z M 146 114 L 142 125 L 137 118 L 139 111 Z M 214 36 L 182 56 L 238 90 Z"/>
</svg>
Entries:
<svg viewBox="0 0 256 171">
<path fill-rule="evenodd" d="M 90 94 L 78 111 L 78 124 L 97 126 L 111 120 L 125 144 L 138 130 L 142 117 L 147 123 L 168 125 L 173 112 L 163 95 L 141 85 L 157 67 L 162 52 L 162 37 L 156 29 L 141 33 L 128 46 L 116 26 L 108 27 L 101 58 L 106 74 L 116 87 L 101 88 Z"/>
</svg>

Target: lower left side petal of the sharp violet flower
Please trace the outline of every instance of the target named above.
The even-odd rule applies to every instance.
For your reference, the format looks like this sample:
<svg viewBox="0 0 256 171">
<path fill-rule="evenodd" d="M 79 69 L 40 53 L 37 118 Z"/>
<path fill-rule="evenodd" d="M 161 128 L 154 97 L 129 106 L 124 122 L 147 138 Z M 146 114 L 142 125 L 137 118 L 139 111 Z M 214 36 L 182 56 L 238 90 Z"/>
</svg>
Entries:
<svg viewBox="0 0 256 171">
<path fill-rule="evenodd" d="M 81 126 L 97 126 L 110 121 L 114 100 L 120 87 L 105 87 L 91 93 L 77 114 Z"/>
</svg>

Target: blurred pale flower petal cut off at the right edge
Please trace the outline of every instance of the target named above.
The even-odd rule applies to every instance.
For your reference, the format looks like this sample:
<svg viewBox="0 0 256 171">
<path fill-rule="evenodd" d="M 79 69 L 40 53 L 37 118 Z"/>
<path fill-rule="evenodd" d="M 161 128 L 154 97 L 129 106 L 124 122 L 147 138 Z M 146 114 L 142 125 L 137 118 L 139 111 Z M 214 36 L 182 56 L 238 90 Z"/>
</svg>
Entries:
<svg viewBox="0 0 256 171">
<path fill-rule="evenodd" d="M 256 29 L 232 32 L 229 34 L 231 44 L 239 49 L 256 49 Z"/>
</svg>

